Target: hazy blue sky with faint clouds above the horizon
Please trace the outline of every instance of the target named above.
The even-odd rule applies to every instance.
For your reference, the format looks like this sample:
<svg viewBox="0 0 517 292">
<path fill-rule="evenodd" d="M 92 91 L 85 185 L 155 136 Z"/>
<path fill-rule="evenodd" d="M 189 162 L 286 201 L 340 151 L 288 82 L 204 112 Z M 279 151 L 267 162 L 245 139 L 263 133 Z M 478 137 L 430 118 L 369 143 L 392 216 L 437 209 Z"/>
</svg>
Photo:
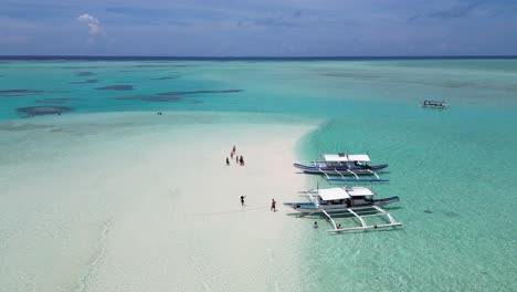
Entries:
<svg viewBox="0 0 517 292">
<path fill-rule="evenodd" d="M 0 55 L 517 55 L 517 0 L 0 0 Z"/>
</svg>

